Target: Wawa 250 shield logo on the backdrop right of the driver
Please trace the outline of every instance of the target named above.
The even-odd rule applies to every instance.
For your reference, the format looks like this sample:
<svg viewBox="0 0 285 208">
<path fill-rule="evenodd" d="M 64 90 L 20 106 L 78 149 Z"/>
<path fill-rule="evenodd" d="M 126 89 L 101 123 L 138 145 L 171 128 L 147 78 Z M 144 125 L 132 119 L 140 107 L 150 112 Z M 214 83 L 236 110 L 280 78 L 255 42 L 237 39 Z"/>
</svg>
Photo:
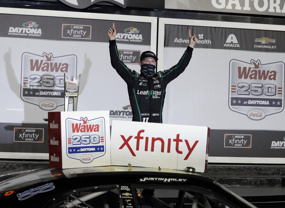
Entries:
<svg viewBox="0 0 285 208">
<path fill-rule="evenodd" d="M 262 64 L 231 60 L 229 63 L 229 108 L 261 120 L 284 109 L 284 63 Z"/>
</svg>

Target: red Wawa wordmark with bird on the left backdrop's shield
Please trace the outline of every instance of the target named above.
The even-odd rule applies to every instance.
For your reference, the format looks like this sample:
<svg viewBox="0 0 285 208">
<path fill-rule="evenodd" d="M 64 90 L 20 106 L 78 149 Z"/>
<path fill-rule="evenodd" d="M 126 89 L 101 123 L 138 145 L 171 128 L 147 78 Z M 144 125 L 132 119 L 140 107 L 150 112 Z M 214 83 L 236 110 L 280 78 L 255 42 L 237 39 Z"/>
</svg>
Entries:
<svg viewBox="0 0 285 208">
<path fill-rule="evenodd" d="M 62 62 L 52 62 L 53 54 L 52 53 L 43 53 L 42 57 L 45 59 L 30 59 L 30 69 L 31 71 L 44 71 L 44 72 L 68 72 L 68 63 L 62 63 Z"/>
</svg>

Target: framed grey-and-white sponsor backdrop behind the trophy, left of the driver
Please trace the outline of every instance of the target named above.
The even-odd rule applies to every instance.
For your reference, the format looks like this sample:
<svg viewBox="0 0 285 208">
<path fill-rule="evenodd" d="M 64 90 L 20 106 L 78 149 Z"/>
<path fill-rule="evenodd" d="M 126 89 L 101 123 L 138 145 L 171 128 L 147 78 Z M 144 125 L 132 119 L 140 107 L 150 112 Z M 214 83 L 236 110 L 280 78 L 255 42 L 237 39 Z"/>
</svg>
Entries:
<svg viewBox="0 0 285 208">
<path fill-rule="evenodd" d="M 0 18 L 0 158 L 48 159 L 43 118 L 64 111 L 64 73 L 81 74 L 78 111 L 109 110 L 111 121 L 132 121 L 107 31 L 115 22 L 119 56 L 139 72 L 141 51 L 155 51 L 157 18 L 12 8 L 0 8 Z"/>
</svg>

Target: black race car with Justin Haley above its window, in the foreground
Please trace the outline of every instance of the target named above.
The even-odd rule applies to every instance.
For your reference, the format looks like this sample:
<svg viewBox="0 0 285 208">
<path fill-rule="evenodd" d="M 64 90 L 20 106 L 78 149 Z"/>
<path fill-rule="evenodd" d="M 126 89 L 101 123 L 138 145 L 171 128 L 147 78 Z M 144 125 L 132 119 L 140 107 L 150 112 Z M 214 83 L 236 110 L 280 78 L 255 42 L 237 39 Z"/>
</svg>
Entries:
<svg viewBox="0 0 285 208">
<path fill-rule="evenodd" d="M 187 169 L 187 168 L 186 168 Z M 255 207 L 213 179 L 161 168 L 47 168 L 0 183 L 0 207 Z"/>
</svg>

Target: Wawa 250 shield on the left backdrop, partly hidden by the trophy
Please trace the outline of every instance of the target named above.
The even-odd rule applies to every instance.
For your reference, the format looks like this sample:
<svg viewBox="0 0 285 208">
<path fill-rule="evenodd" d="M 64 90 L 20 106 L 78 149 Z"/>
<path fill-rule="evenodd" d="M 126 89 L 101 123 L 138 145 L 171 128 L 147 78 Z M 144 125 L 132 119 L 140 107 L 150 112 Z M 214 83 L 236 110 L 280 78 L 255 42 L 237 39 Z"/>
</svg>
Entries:
<svg viewBox="0 0 285 208">
<path fill-rule="evenodd" d="M 28 52 L 22 55 L 21 98 L 43 110 L 53 110 L 64 104 L 64 76 L 76 76 L 77 57 L 42 56 Z"/>
</svg>

